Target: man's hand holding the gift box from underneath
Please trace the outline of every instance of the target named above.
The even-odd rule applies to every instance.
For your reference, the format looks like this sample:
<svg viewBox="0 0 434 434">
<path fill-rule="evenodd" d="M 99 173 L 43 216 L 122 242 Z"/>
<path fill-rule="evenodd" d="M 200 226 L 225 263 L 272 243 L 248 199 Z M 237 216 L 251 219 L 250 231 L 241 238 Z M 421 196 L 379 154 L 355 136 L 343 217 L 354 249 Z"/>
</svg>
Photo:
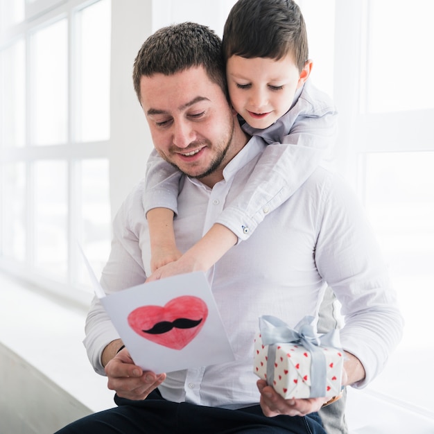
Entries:
<svg viewBox="0 0 434 434">
<path fill-rule="evenodd" d="M 306 416 L 320 410 L 327 398 L 284 399 L 265 380 L 258 380 L 257 386 L 261 392 L 259 401 L 263 414 L 267 417 L 277 415 Z"/>
</svg>

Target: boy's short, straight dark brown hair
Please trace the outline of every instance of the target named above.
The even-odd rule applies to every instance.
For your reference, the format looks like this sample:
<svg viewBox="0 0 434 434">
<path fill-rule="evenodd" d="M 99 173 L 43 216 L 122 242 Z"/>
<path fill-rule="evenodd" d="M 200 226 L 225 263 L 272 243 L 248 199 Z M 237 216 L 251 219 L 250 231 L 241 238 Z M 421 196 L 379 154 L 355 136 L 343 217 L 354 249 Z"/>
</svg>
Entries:
<svg viewBox="0 0 434 434">
<path fill-rule="evenodd" d="M 297 4 L 293 0 L 238 0 L 223 31 L 225 61 L 232 55 L 279 60 L 288 53 L 302 71 L 309 47 Z"/>
</svg>

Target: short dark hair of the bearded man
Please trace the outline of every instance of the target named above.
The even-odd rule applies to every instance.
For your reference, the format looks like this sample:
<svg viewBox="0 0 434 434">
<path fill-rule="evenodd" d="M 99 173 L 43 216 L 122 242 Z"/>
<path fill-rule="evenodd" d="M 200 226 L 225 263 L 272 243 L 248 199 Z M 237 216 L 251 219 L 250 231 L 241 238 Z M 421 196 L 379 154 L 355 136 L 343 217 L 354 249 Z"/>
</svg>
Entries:
<svg viewBox="0 0 434 434">
<path fill-rule="evenodd" d="M 144 42 L 134 60 L 132 80 L 139 102 L 141 76 L 171 76 L 191 67 L 203 67 L 211 82 L 227 96 L 221 40 L 207 26 L 196 23 L 160 28 Z M 228 96 L 227 96 L 228 97 Z"/>
</svg>

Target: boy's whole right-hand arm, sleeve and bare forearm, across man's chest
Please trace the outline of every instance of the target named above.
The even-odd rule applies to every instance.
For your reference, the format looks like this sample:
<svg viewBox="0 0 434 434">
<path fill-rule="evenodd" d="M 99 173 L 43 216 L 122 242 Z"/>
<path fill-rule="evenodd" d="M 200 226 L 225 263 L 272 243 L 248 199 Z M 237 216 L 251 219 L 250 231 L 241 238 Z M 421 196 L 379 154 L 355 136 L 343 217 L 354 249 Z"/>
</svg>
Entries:
<svg viewBox="0 0 434 434">
<path fill-rule="evenodd" d="M 270 146 L 263 151 L 243 193 L 223 209 L 196 245 L 178 261 L 153 273 L 149 281 L 206 271 L 238 241 L 248 239 L 263 218 L 288 200 L 330 153 L 336 141 L 337 113 L 327 95 L 306 83 L 294 107 L 274 125 L 246 131 L 264 137 Z M 272 139 L 279 137 L 280 143 L 273 143 Z"/>
</svg>

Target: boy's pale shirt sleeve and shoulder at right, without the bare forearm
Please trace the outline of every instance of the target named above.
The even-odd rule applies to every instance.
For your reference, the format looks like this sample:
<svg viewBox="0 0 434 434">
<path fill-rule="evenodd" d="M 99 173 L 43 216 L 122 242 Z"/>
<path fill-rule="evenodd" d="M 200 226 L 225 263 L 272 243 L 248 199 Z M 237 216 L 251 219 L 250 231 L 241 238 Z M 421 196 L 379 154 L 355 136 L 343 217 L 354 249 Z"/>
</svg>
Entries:
<svg viewBox="0 0 434 434">
<path fill-rule="evenodd" d="M 238 237 L 248 237 L 271 211 L 302 186 L 331 150 L 337 113 L 327 95 L 308 83 L 294 107 L 266 130 L 243 128 L 265 139 L 266 146 L 243 192 L 216 220 Z M 289 132 L 289 134 L 288 134 Z"/>
</svg>

